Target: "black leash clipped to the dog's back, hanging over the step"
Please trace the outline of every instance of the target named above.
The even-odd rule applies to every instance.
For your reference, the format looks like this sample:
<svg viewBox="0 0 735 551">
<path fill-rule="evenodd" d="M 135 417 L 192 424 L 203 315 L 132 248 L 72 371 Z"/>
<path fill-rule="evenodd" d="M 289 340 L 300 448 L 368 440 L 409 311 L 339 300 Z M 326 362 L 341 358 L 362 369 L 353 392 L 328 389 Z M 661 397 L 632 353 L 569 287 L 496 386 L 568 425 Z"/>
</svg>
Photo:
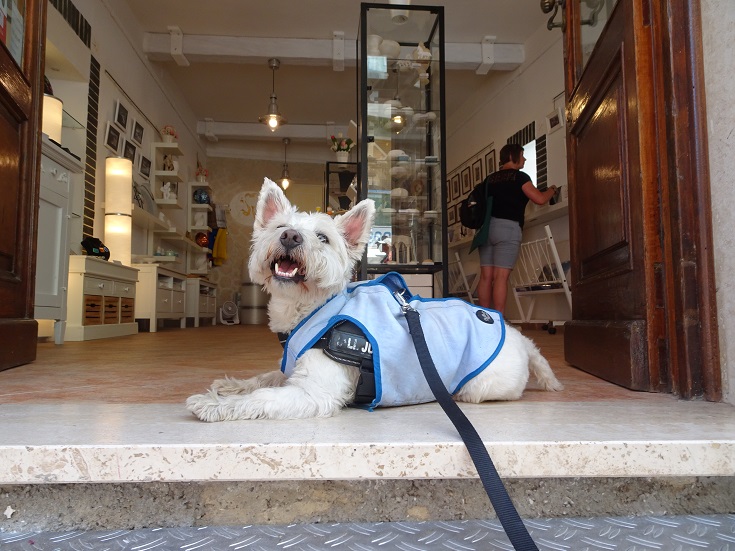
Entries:
<svg viewBox="0 0 735 551">
<path fill-rule="evenodd" d="M 408 329 L 411 332 L 416 355 L 419 357 L 419 363 L 421 364 L 421 370 L 424 372 L 424 377 L 426 377 L 426 382 L 429 383 L 429 388 L 434 393 L 436 401 L 439 402 L 444 413 L 452 421 L 462 441 L 467 446 L 467 451 L 469 451 L 477 473 L 480 475 L 482 485 L 485 487 L 485 491 L 498 515 L 500 524 L 503 525 L 505 533 L 508 535 L 511 545 L 516 551 L 538 551 L 538 547 L 536 547 L 513 505 L 503 481 L 500 480 L 498 471 L 495 469 L 480 435 L 477 434 L 475 427 L 472 426 L 472 423 L 452 399 L 439 377 L 434 361 L 431 359 L 429 347 L 426 345 L 419 313 L 404 300 L 400 293 L 395 293 L 395 296 L 403 307 L 403 313 L 408 321 Z"/>
</svg>

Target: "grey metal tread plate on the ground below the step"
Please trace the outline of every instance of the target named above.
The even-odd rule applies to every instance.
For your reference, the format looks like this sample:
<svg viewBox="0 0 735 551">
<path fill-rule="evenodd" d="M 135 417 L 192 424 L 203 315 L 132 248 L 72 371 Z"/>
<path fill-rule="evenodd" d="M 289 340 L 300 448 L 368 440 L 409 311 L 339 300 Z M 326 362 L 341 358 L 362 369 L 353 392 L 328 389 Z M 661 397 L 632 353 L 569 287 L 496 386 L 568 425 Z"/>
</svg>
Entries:
<svg viewBox="0 0 735 551">
<path fill-rule="evenodd" d="M 524 521 L 540 550 L 735 551 L 735 515 Z M 3 551 L 510 550 L 493 520 L 0 533 Z"/>
</svg>

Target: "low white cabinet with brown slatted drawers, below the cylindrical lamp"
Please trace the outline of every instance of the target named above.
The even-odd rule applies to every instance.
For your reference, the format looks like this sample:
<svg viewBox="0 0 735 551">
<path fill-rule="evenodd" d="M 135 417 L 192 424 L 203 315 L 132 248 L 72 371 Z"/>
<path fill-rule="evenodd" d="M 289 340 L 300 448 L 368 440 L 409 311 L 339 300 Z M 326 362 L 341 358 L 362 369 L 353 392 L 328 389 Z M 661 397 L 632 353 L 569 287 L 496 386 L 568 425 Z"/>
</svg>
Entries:
<svg viewBox="0 0 735 551">
<path fill-rule="evenodd" d="M 66 340 L 86 341 L 138 332 L 138 270 L 84 255 L 69 257 Z"/>
</svg>

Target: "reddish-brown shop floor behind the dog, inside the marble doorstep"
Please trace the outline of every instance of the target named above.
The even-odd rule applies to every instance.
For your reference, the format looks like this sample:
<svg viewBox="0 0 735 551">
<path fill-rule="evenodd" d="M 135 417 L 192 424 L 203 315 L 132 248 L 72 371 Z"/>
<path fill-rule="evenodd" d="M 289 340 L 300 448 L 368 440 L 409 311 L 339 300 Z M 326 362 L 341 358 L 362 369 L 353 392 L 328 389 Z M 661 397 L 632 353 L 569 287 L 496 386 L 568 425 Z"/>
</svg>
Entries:
<svg viewBox="0 0 735 551">
<path fill-rule="evenodd" d="M 574 369 L 564 361 L 560 333 L 525 334 L 538 344 L 566 388 L 541 392 L 531 384 L 524 402 L 675 401 L 629 391 Z M 276 337 L 262 325 L 166 328 L 62 346 L 45 342 L 34 363 L 0 372 L 0 403 L 182 404 L 225 374 L 243 378 L 277 369 L 280 357 Z"/>
</svg>

